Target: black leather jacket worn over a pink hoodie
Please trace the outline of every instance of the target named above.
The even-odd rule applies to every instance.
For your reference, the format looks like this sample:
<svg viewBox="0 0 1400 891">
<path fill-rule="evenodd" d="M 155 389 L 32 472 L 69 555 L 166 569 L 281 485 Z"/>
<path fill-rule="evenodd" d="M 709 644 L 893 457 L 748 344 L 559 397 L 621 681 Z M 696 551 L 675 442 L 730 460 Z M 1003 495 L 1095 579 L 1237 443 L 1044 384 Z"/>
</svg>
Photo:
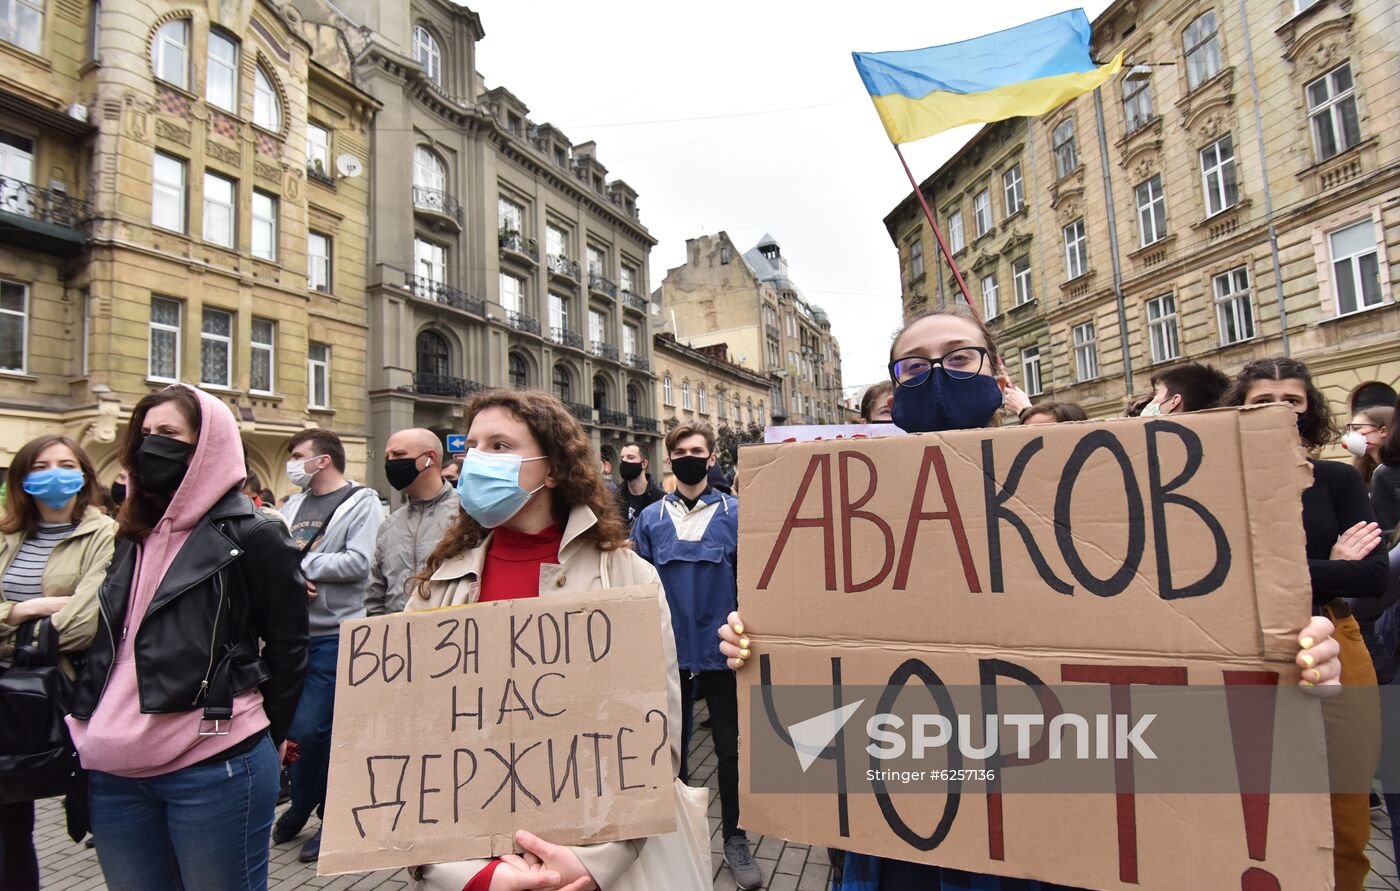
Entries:
<svg viewBox="0 0 1400 891">
<path fill-rule="evenodd" d="M 80 720 L 92 716 L 106 686 L 137 555 L 132 541 L 116 539 L 98 590 L 99 628 L 74 689 Z M 307 674 L 307 580 L 287 528 L 228 492 L 171 562 L 136 632 L 134 653 L 143 713 L 203 707 L 206 719 L 227 720 L 234 696 L 258 686 L 280 744 Z"/>
</svg>

